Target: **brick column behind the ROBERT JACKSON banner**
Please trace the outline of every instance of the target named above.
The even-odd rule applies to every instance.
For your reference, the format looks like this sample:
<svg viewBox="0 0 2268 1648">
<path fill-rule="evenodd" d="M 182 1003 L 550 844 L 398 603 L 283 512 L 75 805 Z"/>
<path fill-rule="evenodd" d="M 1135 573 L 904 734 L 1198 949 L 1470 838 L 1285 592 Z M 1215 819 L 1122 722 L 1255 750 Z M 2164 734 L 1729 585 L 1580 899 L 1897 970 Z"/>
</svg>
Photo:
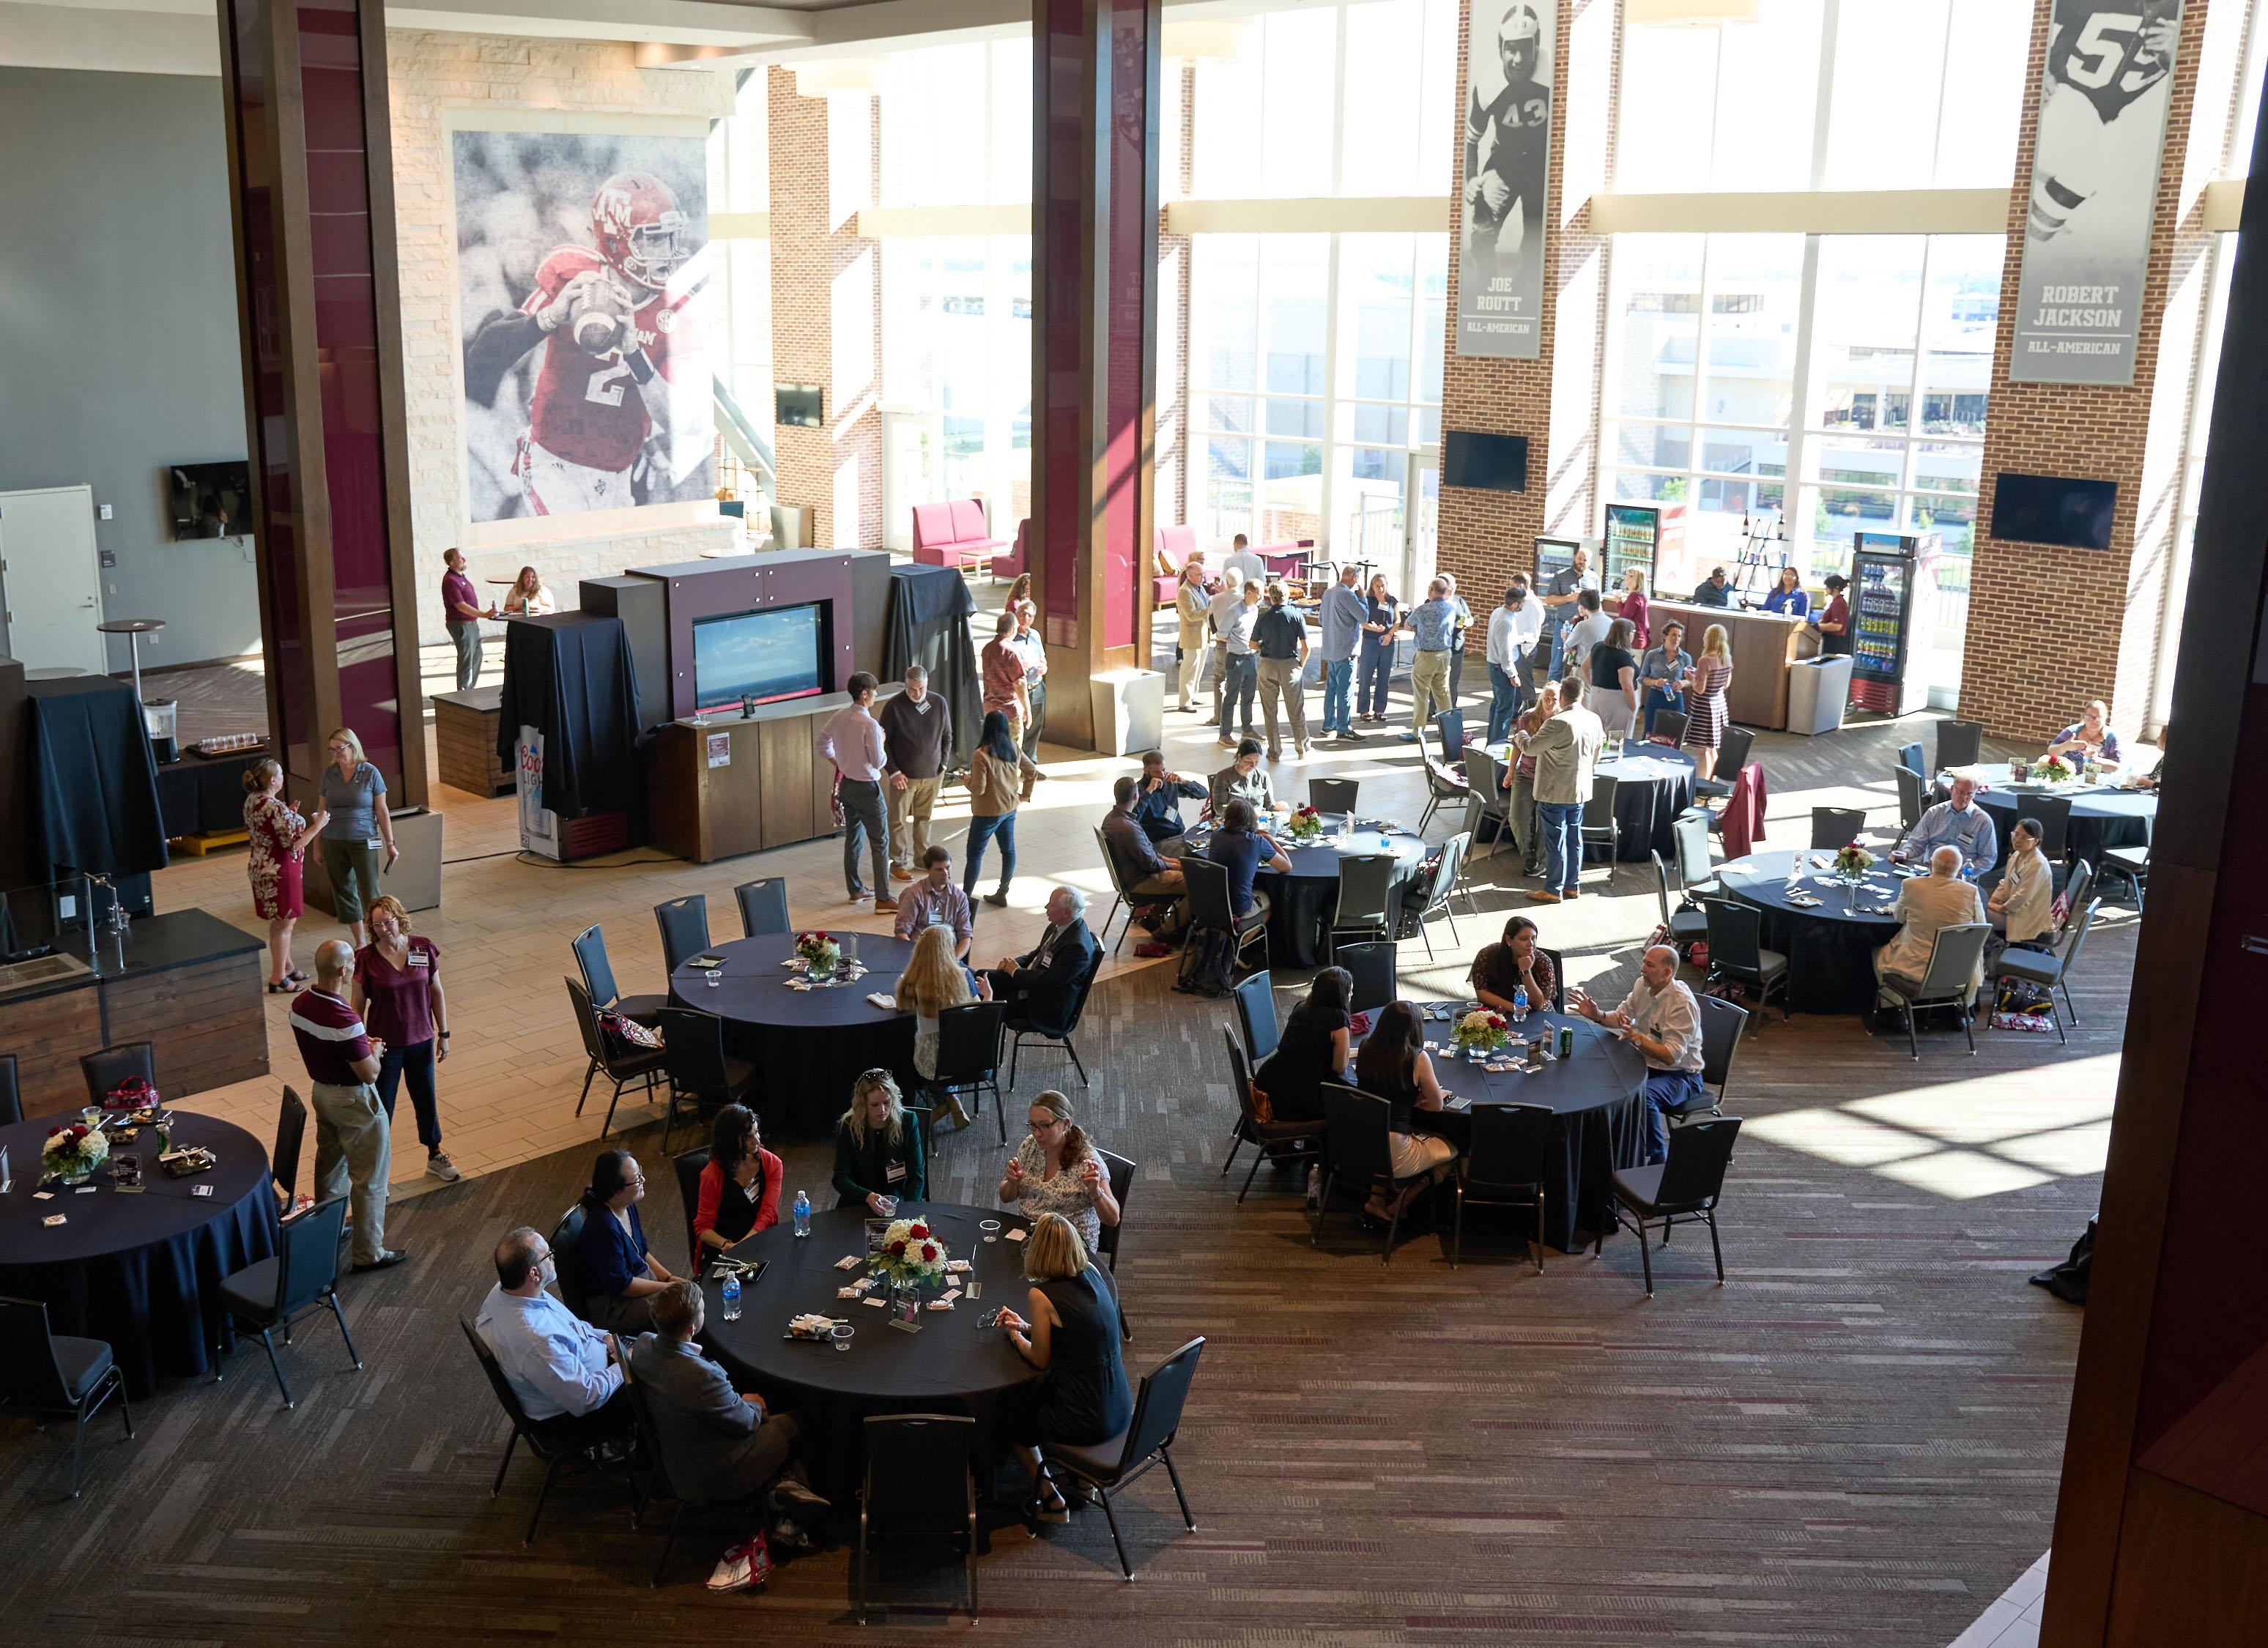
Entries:
<svg viewBox="0 0 2268 1648">
<path fill-rule="evenodd" d="M 2032 197 L 2032 134 L 2048 52 L 2041 5 L 2025 70 L 2016 186 L 2007 202 L 2000 292 L 2014 299 Z M 2211 236 L 2202 193 L 2225 156 L 2243 70 L 2243 0 L 2189 0 L 2166 107 L 2166 159 L 2141 292 L 2134 385 L 2012 383 L 2014 301 L 2000 306 L 1991 413 L 1969 574 L 1962 719 L 1987 732 L 2046 741 L 2107 698 L 2121 739 L 2143 732 L 2182 503 L 2189 408 L 2204 354 Z M 1991 537 L 1996 474 L 2116 481 L 2109 551 L 2009 544 Z"/>
</svg>

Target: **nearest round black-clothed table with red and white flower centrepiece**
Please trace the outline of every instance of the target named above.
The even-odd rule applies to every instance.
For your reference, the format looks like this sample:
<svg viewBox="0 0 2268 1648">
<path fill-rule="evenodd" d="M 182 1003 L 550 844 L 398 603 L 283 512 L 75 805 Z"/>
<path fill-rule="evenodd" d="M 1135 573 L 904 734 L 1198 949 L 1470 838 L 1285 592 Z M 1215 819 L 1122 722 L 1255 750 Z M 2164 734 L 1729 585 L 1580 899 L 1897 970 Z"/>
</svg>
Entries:
<svg viewBox="0 0 2268 1648">
<path fill-rule="evenodd" d="M 735 1247 L 733 1258 L 769 1263 L 762 1279 L 742 1285 L 739 1322 L 723 1319 L 717 1279 L 701 1279 L 708 1294 L 701 1342 L 733 1374 L 737 1390 L 755 1390 L 767 1405 L 796 1415 L 805 1469 L 837 1505 L 850 1503 L 855 1494 L 866 1415 L 971 1415 L 978 1421 L 980 1458 L 996 1458 L 1007 1442 L 996 1424 L 1002 1401 L 1039 1381 L 1039 1371 L 1016 1353 L 1007 1333 L 980 1326 L 998 1306 L 1032 1315 L 1023 1242 L 1007 1240 L 1012 1229 L 1030 1229 L 1030 1220 L 953 1201 L 898 1204 L 896 1217 L 914 1215 L 930 1222 L 953 1258 L 971 1260 L 966 1279 L 984 1288 L 980 1299 L 962 1299 L 953 1310 L 923 1310 L 921 1333 L 889 1326 L 885 1310 L 835 1297 L 837 1288 L 866 1272 L 864 1208 L 814 1210 L 812 1233 L 801 1242 L 794 1222 L 782 1220 Z M 978 1220 L 1000 1220 L 1000 1240 L 984 1242 Z M 850 1254 L 862 1263 L 837 1269 L 837 1260 Z M 934 1299 L 937 1292 L 932 1288 L 923 1297 Z M 857 1328 L 850 1349 L 789 1340 L 787 1322 L 807 1310 L 848 1319 Z M 978 1480 L 989 1480 L 982 1469 Z"/>
</svg>

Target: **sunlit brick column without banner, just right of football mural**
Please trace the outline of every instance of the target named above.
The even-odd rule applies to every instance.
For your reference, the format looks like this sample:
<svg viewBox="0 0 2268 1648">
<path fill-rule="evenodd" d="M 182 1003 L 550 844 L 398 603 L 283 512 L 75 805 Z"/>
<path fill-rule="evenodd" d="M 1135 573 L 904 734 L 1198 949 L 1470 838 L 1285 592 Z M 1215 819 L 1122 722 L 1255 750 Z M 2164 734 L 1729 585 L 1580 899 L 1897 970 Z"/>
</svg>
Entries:
<svg viewBox="0 0 2268 1648">
<path fill-rule="evenodd" d="M 821 428 L 771 431 L 780 503 L 816 510 L 812 542 L 821 549 L 880 549 L 882 245 L 857 233 L 860 206 L 880 195 L 878 109 L 871 93 L 803 97 L 794 70 L 764 73 L 771 365 L 780 383 L 826 392 Z M 830 100 L 846 107 L 830 109 Z"/>
</svg>

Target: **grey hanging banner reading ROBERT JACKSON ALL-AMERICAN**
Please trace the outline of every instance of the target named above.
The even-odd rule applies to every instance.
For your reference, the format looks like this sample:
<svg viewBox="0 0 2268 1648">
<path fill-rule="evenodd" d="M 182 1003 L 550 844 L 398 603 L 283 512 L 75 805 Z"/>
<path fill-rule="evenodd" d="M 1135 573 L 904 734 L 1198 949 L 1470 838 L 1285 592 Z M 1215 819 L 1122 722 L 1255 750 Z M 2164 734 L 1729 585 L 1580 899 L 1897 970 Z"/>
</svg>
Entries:
<svg viewBox="0 0 2268 1648">
<path fill-rule="evenodd" d="M 2182 0 L 2055 0 L 2016 283 L 2016 383 L 2132 383 Z"/>
</svg>

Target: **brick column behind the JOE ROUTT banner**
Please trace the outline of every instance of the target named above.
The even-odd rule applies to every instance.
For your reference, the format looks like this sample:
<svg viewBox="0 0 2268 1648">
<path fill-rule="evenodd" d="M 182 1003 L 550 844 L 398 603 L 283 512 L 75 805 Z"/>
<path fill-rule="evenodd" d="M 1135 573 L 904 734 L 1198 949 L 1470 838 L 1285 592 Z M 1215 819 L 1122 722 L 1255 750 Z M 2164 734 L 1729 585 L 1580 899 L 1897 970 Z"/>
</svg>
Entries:
<svg viewBox="0 0 2268 1648">
<path fill-rule="evenodd" d="M 1483 9 L 1495 27 L 1501 7 Z M 1449 188 L 1449 313 L 1442 360 L 1442 428 L 1529 438 L 1529 490 L 1440 490 L 1438 567 L 1456 574 L 1458 594 L 1479 621 L 1465 651 L 1488 648 L 1488 610 L 1515 571 L 1535 571 L 1540 533 L 1594 533 L 1599 372 L 1606 345 L 1606 236 L 1590 227 L 1590 197 L 1613 181 L 1615 70 L 1622 52 L 1617 7 L 1558 5 L 1554 48 L 1551 193 L 1545 215 L 1542 354 L 1535 360 L 1483 360 L 1456 354 L 1458 222 L 1465 190 L 1465 41 L 1458 34 L 1456 177 Z M 1404 592 L 1422 601 L 1422 589 Z M 1472 676 L 1467 673 L 1467 682 Z M 1486 689 L 1486 682 L 1483 682 Z"/>
</svg>

